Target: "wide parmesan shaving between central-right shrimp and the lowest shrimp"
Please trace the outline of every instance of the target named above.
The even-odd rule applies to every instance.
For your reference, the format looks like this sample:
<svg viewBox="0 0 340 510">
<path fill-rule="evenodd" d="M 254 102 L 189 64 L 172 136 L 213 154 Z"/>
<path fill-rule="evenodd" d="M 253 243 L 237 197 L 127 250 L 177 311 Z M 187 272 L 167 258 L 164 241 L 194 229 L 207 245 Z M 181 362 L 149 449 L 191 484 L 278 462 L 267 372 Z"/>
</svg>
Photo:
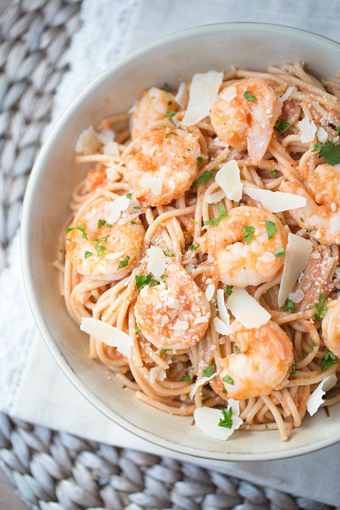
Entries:
<svg viewBox="0 0 340 510">
<path fill-rule="evenodd" d="M 245 289 L 232 288 L 227 300 L 227 308 L 246 328 L 260 327 L 267 324 L 271 315 Z"/>
</svg>

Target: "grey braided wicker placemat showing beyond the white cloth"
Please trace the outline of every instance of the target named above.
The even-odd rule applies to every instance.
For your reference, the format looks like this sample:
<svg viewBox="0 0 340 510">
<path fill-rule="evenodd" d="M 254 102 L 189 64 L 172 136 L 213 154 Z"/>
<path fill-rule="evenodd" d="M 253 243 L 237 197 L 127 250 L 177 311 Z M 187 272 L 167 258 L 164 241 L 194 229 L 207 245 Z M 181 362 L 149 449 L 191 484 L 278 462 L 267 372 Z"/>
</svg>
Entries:
<svg viewBox="0 0 340 510">
<path fill-rule="evenodd" d="M 67 70 L 63 54 L 79 25 L 79 11 L 79 0 L 16 0 L 0 21 L 0 269 L 19 224 L 54 92 Z M 2 413 L 0 468 L 34 510 L 334 508 Z"/>
</svg>

